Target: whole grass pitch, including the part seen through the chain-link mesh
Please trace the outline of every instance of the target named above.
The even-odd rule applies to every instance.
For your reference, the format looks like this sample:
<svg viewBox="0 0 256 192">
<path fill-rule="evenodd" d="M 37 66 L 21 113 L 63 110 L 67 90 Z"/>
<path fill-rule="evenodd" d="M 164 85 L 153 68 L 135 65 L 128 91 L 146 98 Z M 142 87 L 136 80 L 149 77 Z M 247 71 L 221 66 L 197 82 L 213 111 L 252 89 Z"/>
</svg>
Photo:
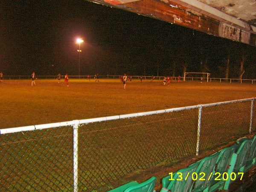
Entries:
<svg viewBox="0 0 256 192">
<path fill-rule="evenodd" d="M 33 87 L 30 83 L 6 80 L 0 84 L 1 128 L 256 96 L 254 84 L 186 81 L 168 87 L 162 81 L 140 84 L 133 80 L 124 90 L 113 79 L 99 83 L 71 79 L 69 87 L 56 80 L 38 80 Z M 201 151 L 247 134 L 249 117 L 250 102 L 203 108 Z M 197 123 L 198 109 L 190 109 L 81 125 L 79 191 L 105 191 L 130 181 L 126 176 L 134 172 L 147 175 L 145 169 L 194 155 Z M 1 135 L 0 186 L 6 191 L 72 191 L 72 131 L 61 127 Z"/>
</svg>

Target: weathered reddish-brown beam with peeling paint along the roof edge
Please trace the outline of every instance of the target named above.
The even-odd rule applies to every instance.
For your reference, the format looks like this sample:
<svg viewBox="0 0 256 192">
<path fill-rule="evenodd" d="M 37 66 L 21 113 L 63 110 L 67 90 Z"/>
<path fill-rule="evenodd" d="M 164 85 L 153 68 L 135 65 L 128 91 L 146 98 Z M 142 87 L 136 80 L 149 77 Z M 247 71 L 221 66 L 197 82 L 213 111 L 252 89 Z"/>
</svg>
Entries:
<svg viewBox="0 0 256 192">
<path fill-rule="evenodd" d="M 126 0 L 88 1 L 256 46 L 256 27 L 204 3 L 198 3 L 198 0 L 127 0 L 129 3 L 125 3 Z M 195 5 L 189 4 L 191 1 Z"/>
</svg>

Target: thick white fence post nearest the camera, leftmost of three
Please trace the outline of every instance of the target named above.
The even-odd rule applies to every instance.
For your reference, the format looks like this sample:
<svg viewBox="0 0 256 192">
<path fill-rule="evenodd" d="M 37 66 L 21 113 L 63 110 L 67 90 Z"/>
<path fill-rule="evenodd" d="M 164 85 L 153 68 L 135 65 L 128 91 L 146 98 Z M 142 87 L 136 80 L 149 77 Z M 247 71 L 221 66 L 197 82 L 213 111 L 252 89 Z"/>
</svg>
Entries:
<svg viewBox="0 0 256 192">
<path fill-rule="evenodd" d="M 75 120 L 73 125 L 73 186 L 74 192 L 78 192 L 78 125 L 79 120 Z"/>
</svg>

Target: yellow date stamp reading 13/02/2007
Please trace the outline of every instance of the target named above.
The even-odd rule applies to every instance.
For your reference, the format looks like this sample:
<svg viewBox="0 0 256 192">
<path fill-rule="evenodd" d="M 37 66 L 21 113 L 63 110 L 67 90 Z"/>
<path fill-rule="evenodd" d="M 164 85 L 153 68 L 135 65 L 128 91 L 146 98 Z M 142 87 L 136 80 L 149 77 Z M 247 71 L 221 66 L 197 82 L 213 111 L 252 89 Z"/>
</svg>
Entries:
<svg viewBox="0 0 256 192">
<path fill-rule="evenodd" d="M 177 172 L 177 178 L 176 178 L 176 180 L 187 180 L 189 177 L 192 177 L 192 180 L 211 180 L 211 178 L 212 178 L 212 175 L 213 173 L 211 172 L 211 174 L 209 175 L 209 177 L 206 177 L 206 174 L 204 173 L 204 172 L 201 172 L 201 173 L 197 173 L 197 172 L 192 172 L 192 173 L 190 173 L 190 172 L 188 172 L 186 175 L 183 175 L 182 174 L 182 172 Z M 173 178 L 173 173 L 171 172 L 171 173 L 169 173 L 169 175 L 170 175 L 170 179 L 169 180 L 175 180 L 174 178 Z M 230 178 L 230 180 L 236 180 L 236 177 L 237 176 L 240 176 L 241 175 L 241 177 L 240 177 L 240 180 L 242 180 L 242 178 L 243 178 L 243 175 L 244 175 L 244 173 L 243 172 L 238 172 L 237 174 L 236 173 L 234 173 L 234 172 L 232 172 L 232 173 L 230 173 L 230 175 L 227 173 L 227 172 L 224 172 L 223 174 L 221 174 L 220 172 L 215 172 L 214 173 L 214 180 L 228 180 L 229 178 Z"/>
</svg>

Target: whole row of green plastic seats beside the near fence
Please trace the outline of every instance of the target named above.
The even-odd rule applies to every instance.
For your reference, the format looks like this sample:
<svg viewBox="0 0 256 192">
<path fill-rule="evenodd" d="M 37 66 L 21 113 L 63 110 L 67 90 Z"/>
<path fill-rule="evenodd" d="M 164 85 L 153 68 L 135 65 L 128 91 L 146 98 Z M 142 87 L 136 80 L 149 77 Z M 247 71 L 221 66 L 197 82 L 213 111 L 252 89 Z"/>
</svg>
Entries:
<svg viewBox="0 0 256 192">
<path fill-rule="evenodd" d="M 256 165 L 256 135 L 243 137 L 236 144 L 163 177 L 161 192 L 214 192 L 228 190 L 233 181 Z M 172 176 L 172 177 L 171 177 Z M 154 192 L 156 177 L 131 181 L 109 192 Z M 172 179 L 172 180 L 170 180 Z"/>
</svg>

